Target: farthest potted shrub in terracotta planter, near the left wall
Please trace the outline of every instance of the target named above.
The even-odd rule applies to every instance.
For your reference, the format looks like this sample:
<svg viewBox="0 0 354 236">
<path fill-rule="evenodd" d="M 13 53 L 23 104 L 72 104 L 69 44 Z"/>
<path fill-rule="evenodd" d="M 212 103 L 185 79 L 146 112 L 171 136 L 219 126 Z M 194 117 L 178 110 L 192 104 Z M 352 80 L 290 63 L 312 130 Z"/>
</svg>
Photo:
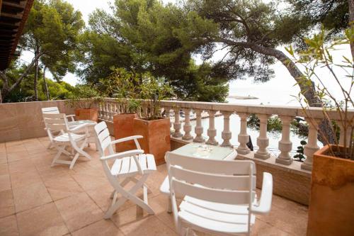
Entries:
<svg viewBox="0 0 354 236">
<path fill-rule="evenodd" d="M 75 108 L 76 120 L 93 120 L 98 121 L 97 103 L 103 101 L 102 96 L 96 89 L 88 85 L 76 86 L 76 91 L 67 104 Z"/>
</svg>

